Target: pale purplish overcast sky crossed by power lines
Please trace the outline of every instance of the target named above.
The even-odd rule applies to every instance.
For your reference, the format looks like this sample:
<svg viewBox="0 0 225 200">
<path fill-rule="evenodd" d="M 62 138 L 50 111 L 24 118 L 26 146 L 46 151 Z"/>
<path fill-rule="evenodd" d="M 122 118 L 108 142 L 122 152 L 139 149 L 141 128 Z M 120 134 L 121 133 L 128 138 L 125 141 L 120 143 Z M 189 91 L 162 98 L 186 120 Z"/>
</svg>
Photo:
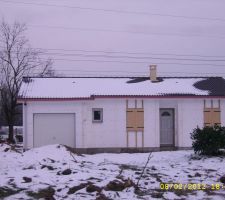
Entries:
<svg viewBox="0 0 225 200">
<path fill-rule="evenodd" d="M 224 0 L 0 0 L 0 17 L 61 74 L 225 76 Z"/>
</svg>

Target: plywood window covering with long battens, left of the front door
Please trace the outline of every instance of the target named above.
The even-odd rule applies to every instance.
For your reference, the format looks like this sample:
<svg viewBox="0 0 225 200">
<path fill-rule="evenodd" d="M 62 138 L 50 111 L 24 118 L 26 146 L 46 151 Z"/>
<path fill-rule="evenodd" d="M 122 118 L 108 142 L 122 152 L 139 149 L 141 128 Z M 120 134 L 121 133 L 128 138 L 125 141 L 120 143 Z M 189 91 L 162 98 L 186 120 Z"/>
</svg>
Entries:
<svg viewBox="0 0 225 200">
<path fill-rule="evenodd" d="M 134 107 L 128 107 L 131 105 L 128 100 L 126 101 L 127 109 L 127 147 L 132 147 L 133 141 L 131 141 L 131 136 L 135 134 L 135 147 L 144 146 L 144 103 L 143 100 L 135 100 Z M 141 142 L 140 142 L 141 141 Z M 141 143 L 141 145 L 140 145 Z"/>
</svg>

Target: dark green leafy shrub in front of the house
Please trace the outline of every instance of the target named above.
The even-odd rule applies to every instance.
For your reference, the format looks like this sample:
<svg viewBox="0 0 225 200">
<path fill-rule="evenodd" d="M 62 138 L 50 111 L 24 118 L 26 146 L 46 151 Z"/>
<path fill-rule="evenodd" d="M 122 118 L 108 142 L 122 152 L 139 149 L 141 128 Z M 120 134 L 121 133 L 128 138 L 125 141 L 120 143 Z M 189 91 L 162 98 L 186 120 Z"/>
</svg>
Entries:
<svg viewBox="0 0 225 200">
<path fill-rule="evenodd" d="M 194 152 L 202 155 L 218 155 L 225 148 L 225 127 L 213 126 L 200 129 L 197 127 L 191 133 Z"/>
</svg>

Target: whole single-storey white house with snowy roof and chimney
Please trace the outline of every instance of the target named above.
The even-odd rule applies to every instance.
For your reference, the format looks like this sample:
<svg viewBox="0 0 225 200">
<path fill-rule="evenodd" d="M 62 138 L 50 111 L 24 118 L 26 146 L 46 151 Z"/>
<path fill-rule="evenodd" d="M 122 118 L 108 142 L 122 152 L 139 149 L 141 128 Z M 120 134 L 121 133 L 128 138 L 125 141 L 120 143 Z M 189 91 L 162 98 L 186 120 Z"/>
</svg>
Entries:
<svg viewBox="0 0 225 200">
<path fill-rule="evenodd" d="M 80 152 L 190 148 L 197 126 L 225 124 L 222 77 L 26 77 L 24 148 L 61 143 Z"/>
</svg>

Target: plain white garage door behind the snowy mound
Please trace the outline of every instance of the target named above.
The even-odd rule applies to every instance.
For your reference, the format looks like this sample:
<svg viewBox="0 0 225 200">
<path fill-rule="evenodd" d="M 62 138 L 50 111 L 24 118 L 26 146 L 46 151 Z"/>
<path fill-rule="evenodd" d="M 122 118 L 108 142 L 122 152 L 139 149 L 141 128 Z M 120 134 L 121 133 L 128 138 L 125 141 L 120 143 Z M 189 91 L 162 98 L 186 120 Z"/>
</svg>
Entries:
<svg viewBox="0 0 225 200">
<path fill-rule="evenodd" d="M 75 114 L 34 114 L 34 147 L 49 144 L 75 147 Z"/>
</svg>

